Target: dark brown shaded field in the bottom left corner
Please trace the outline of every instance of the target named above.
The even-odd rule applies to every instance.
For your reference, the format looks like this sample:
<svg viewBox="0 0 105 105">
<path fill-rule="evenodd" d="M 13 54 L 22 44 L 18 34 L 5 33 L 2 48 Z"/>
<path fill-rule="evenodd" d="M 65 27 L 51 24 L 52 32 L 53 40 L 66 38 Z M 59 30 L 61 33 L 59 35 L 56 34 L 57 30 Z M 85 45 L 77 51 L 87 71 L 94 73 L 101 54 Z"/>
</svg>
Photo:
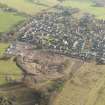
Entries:
<svg viewBox="0 0 105 105">
<path fill-rule="evenodd" d="M 38 101 L 36 94 L 22 84 L 11 84 L 1 87 L 0 96 L 15 99 L 16 105 L 35 105 L 34 103 Z"/>
</svg>

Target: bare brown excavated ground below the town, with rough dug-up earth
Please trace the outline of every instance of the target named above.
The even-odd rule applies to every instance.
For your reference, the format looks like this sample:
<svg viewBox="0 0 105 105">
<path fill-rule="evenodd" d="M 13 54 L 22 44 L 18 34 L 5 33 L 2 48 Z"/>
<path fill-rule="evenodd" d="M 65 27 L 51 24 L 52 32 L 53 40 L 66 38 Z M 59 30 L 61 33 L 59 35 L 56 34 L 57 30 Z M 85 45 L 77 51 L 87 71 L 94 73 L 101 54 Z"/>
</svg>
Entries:
<svg viewBox="0 0 105 105">
<path fill-rule="evenodd" d="M 24 55 L 24 56 L 23 56 Z M 58 79 L 68 79 L 83 61 L 51 53 L 48 51 L 25 51 L 17 57 L 17 64 L 25 73 L 25 79 L 31 77 L 30 82 L 48 83 Z"/>
</svg>

